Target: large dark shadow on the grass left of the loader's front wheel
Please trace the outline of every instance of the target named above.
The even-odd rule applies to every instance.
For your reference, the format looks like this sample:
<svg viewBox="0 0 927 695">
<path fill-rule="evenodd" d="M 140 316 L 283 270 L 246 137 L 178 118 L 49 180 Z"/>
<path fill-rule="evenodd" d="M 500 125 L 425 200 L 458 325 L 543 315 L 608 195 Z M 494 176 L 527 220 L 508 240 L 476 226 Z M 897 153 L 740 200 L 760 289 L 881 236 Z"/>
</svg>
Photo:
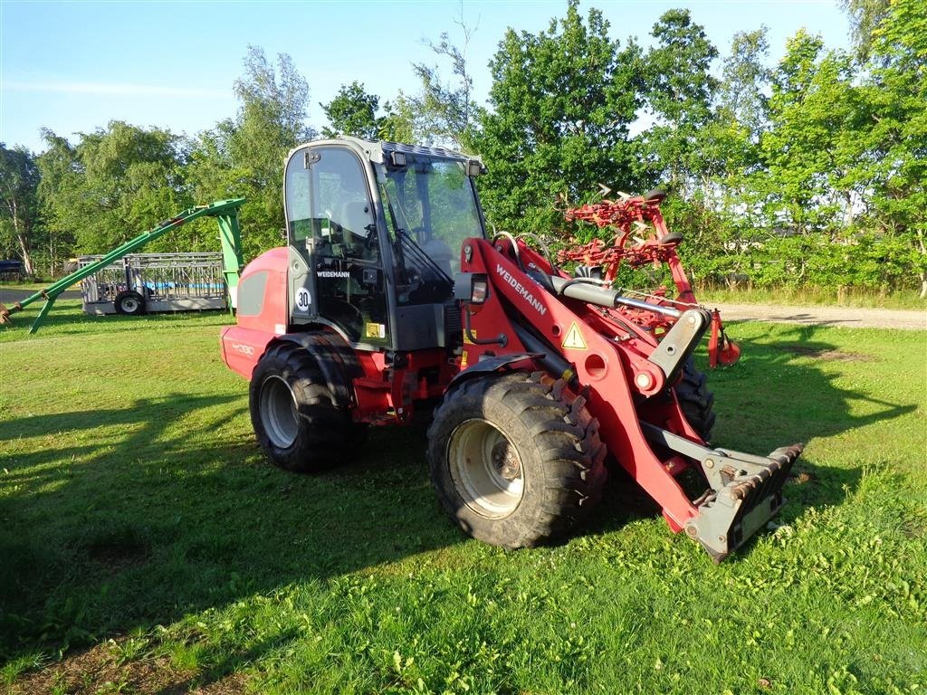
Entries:
<svg viewBox="0 0 927 695">
<path fill-rule="evenodd" d="M 412 433 L 378 430 L 359 461 L 288 474 L 249 432 L 202 446 L 201 432 L 248 416 L 243 400 L 177 394 L 0 422 L 0 440 L 67 442 L 0 453 L 0 663 L 463 540 Z M 176 426 L 184 417 L 196 433 Z"/>
</svg>

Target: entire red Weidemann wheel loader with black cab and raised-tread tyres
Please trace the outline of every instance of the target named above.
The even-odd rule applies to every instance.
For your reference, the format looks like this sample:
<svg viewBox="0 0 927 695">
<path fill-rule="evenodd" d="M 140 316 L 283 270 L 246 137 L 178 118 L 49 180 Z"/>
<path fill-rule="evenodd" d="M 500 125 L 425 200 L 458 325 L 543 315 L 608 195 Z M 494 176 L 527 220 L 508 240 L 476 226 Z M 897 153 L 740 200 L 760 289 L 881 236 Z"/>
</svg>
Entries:
<svg viewBox="0 0 927 695">
<path fill-rule="evenodd" d="M 611 454 L 674 532 L 723 559 L 779 510 L 802 445 L 709 447 L 711 397 L 691 356 L 717 319 L 681 266 L 678 299 L 632 298 L 602 265 L 568 275 L 525 239 L 489 239 L 484 171 L 445 149 L 354 138 L 290 152 L 288 244 L 245 268 L 221 339 L 250 381 L 261 449 L 287 470 L 323 469 L 366 426 L 438 404 L 431 477 L 467 534 L 509 549 L 563 536 L 601 498 Z M 638 210 L 634 253 L 679 265 L 660 197 L 612 207 Z M 616 219 L 606 208 L 574 216 L 601 226 Z M 695 499 L 678 482 L 687 469 L 704 484 Z"/>
</svg>

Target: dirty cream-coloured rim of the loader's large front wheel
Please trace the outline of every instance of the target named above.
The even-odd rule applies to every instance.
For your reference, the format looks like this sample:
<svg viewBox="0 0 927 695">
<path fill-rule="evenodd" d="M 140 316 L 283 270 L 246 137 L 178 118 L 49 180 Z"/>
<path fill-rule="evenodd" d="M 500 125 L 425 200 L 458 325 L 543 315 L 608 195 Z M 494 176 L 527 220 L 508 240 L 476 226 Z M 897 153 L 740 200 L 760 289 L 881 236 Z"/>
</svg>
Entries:
<svg viewBox="0 0 927 695">
<path fill-rule="evenodd" d="M 485 420 L 459 424 L 448 440 L 451 479 L 464 504 L 490 519 L 508 516 L 525 495 L 518 449 Z"/>
</svg>

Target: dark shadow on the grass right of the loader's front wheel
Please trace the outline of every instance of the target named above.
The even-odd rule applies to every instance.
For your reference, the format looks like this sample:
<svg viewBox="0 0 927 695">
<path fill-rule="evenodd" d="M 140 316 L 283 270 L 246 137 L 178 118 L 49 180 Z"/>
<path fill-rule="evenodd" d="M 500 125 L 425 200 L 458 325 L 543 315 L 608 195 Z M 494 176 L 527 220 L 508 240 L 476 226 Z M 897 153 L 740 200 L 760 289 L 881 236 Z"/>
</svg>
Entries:
<svg viewBox="0 0 927 695">
<path fill-rule="evenodd" d="M 819 339 L 819 326 L 777 325 L 771 330 L 775 332 L 771 338 L 738 338 L 742 360 L 708 373 L 708 387 L 716 396 L 714 446 L 765 455 L 783 445 L 808 444 L 917 409 L 914 403 L 872 398 L 835 384 L 843 376 L 840 365 L 875 358 Z M 867 404 L 869 414 L 853 413 L 853 404 L 859 402 Z M 616 530 L 629 519 L 661 513 L 629 474 L 620 466 L 614 469 L 590 530 Z M 843 502 L 846 490 L 853 490 L 860 476 L 858 467 L 821 465 L 814 449 L 806 450 L 785 486 L 788 501 L 781 519 L 790 522 L 809 507 Z M 744 550 L 749 551 L 749 546 L 738 552 Z"/>
</svg>

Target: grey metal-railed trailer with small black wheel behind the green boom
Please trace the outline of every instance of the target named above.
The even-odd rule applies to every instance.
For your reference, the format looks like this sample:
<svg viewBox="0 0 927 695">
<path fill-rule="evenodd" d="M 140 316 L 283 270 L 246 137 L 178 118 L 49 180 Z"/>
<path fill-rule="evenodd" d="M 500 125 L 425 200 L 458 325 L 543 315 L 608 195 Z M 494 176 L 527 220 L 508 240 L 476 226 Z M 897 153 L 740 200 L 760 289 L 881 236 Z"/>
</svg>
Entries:
<svg viewBox="0 0 927 695">
<path fill-rule="evenodd" d="M 103 256 L 81 256 L 79 268 Z M 99 268 L 81 281 L 83 310 L 93 315 L 225 309 L 222 254 L 136 253 Z"/>
</svg>

